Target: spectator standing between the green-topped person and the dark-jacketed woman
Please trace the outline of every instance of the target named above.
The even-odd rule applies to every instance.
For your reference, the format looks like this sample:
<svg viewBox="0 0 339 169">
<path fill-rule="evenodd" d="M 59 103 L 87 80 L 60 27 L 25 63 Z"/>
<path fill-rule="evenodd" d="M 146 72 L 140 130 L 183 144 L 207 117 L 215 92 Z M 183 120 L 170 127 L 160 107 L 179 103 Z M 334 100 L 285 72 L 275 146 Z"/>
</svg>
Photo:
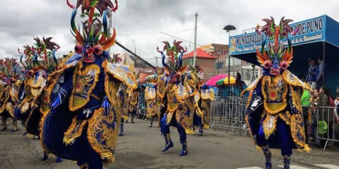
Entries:
<svg viewBox="0 0 339 169">
<path fill-rule="evenodd" d="M 316 137 L 316 133 L 317 133 L 317 118 L 316 118 L 316 114 L 317 114 L 317 109 L 318 109 L 318 99 L 319 99 L 319 91 L 317 89 L 314 89 L 312 92 L 312 97 L 310 99 L 310 107 L 309 110 L 312 114 L 312 126 L 313 126 L 313 130 L 312 130 L 312 134 L 310 136 L 310 141 L 314 140 L 314 144 L 316 146 L 321 146 L 320 145 L 320 139 L 318 137 Z"/>
</svg>

